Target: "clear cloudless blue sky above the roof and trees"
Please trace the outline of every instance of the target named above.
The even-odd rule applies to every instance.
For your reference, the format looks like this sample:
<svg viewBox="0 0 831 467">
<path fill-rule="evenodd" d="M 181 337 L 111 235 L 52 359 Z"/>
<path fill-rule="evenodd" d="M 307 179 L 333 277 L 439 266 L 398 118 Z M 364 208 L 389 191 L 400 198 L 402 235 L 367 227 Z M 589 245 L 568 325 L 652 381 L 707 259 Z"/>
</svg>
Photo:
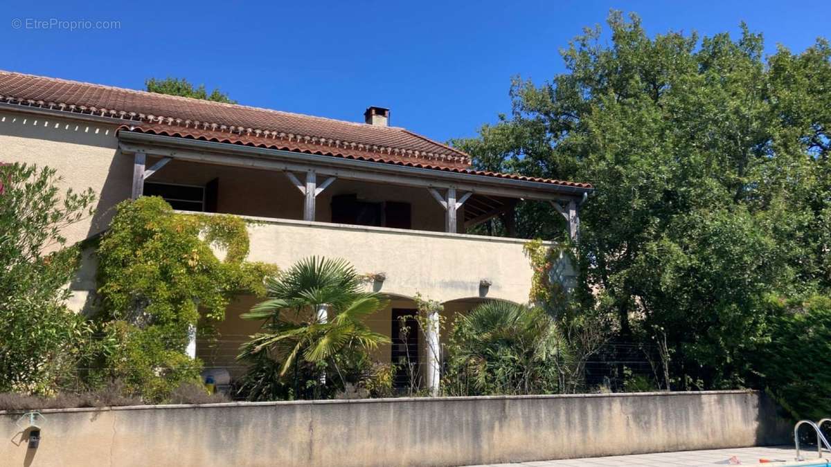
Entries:
<svg viewBox="0 0 831 467">
<path fill-rule="evenodd" d="M 241 104 L 342 120 L 386 106 L 392 125 L 447 140 L 509 111 L 511 76 L 562 72 L 558 49 L 610 8 L 637 12 L 650 34 L 735 34 L 745 20 L 768 52 L 831 37 L 827 0 L 15 2 L 0 68 L 134 89 L 181 76 Z M 53 18 L 120 28 L 32 28 Z"/>
</svg>

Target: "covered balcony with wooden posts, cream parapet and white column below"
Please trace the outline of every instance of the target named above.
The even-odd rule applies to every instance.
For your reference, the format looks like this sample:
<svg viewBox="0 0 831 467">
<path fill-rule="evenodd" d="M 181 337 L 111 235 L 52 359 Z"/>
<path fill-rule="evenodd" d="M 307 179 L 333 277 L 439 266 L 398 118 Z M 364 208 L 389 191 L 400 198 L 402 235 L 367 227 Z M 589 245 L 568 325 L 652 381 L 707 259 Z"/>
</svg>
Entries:
<svg viewBox="0 0 831 467">
<path fill-rule="evenodd" d="M 416 297 L 443 305 L 452 320 L 489 299 L 527 302 L 533 271 L 520 238 L 466 234 L 501 216 L 511 230 L 519 202 L 552 204 L 572 238 L 590 188 L 553 180 L 517 179 L 470 170 L 300 154 L 244 145 L 120 131 L 120 151 L 134 158 L 133 196 L 160 195 L 182 212 L 235 214 L 248 221 L 248 259 L 288 268 L 302 258 L 347 259 L 368 287 L 391 298 L 371 327 L 395 341 L 399 317 L 416 312 Z M 567 268 L 568 269 L 568 268 Z M 573 276 L 572 270 L 560 272 Z M 240 297 L 217 331 L 218 344 L 197 345 L 209 366 L 242 371 L 238 344 L 256 322 L 238 315 L 256 300 Z M 438 385 L 438 317 L 423 337 L 376 352 L 396 362 L 402 348 L 423 384 Z M 236 374 L 234 374 L 236 373 Z"/>
</svg>

